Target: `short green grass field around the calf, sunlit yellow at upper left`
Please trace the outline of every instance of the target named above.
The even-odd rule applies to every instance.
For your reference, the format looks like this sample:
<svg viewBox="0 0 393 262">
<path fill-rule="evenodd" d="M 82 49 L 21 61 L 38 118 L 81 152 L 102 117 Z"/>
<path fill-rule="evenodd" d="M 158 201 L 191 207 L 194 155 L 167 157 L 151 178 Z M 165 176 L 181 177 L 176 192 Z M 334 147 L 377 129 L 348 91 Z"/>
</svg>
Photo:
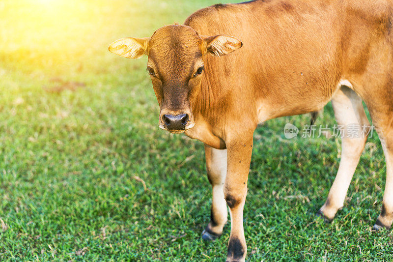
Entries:
<svg viewBox="0 0 393 262">
<path fill-rule="evenodd" d="M 182 23 L 215 0 L 0 2 L 0 260 L 223 261 L 229 226 L 205 243 L 211 191 L 203 144 L 158 128 L 146 58 L 107 46 Z M 254 134 L 244 213 L 248 261 L 392 261 L 372 233 L 386 167 L 368 140 L 344 208 L 314 214 L 337 172 L 339 138 Z M 331 105 L 317 124 L 335 123 Z M 338 151 L 337 151 L 338 146 Z"/>
</svg>

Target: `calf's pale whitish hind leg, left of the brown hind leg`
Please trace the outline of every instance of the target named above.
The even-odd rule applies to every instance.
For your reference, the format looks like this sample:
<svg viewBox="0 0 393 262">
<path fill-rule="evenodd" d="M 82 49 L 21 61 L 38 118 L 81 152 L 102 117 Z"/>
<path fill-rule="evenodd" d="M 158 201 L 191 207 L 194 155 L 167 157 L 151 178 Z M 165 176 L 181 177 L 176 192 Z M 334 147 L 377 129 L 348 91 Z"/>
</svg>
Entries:
<svg viewBox="0 0 393 262">
<path fill-rule="evenodd" d="M 317 214 L 325 221 L 331 221 L 337 210 L 344 205 L 349 184 L 367 140 L 367 132 L 361 134 L 362 126 L 369 125 L 362 99 L 352 89 L 342 86 L 334 96 L 332 104 L 337 123 L 344 126 L 344 131 L 341 138 L 341 160 L 337 175 L 325 204 Z M 349 129 L 356 130 L 359 137 L 352 137 L 352 135 L 348 137 Z"/>
</svg>

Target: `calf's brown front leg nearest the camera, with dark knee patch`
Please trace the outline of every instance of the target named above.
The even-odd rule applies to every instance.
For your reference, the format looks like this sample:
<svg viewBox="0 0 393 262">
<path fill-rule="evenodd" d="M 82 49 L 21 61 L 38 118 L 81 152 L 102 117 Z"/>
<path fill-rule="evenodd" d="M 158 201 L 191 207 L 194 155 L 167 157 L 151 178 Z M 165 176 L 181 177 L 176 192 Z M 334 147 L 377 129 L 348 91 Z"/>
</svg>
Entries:
<svg viewBox="0 0 393 262">
<path fill-rule="evenodd" d="M 234 136 L 225 141 L 227 173 L 224 183 L 225 201 L 230 213 L 230 236 L 227 262 L 245 261 L 247 253 L 243 229 L 243 207 L 247 195 L 247 180 L 253 151 L 253 133 Z"/>
</svg>

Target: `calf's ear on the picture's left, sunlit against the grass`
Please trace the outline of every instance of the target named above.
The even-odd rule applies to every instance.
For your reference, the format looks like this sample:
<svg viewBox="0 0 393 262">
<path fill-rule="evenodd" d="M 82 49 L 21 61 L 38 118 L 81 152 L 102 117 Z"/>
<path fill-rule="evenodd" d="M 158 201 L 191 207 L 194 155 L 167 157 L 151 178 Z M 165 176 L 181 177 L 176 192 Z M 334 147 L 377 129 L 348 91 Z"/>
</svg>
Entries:
<svg viewBox="0 0 393 262">
<path fill-rule="evenodd" d="M 143 54 L 149 55 L 148 43 L 150 37 L 133 38 L 126 37 L 114 41 L 109 45 L 108 50 L 124 58 L 140 58 Z"/>
</svg>

